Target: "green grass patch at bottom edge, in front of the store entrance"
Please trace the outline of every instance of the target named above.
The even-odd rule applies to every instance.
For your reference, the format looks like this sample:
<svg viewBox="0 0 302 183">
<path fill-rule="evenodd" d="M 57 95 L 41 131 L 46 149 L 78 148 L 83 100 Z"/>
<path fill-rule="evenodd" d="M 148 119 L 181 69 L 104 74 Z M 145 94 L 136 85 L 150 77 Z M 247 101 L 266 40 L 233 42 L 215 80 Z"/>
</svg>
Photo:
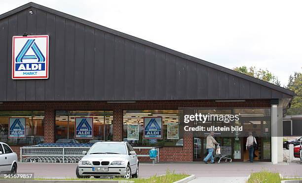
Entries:
<svg viewBox="0 0 302 183">
<path fill-rule="evenodd" d="M 261 172 L 252 173 L 247 183 L 281 183 L 281 179 L 278 173 L 263 170 Z"/>
</svg>

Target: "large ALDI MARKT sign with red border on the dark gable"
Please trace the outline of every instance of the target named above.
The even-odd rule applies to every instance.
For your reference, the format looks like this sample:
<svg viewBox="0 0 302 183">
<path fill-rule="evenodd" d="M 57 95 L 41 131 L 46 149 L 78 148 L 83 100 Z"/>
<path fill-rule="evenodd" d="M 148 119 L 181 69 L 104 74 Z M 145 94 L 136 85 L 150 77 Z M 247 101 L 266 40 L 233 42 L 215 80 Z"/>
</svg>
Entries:
<svg viewBox="0 0 302 183">
<path fill-rule="evenodd" d="M 12 79 L 48 79 L 48 35 L 13 36 Z"/>
</svg>

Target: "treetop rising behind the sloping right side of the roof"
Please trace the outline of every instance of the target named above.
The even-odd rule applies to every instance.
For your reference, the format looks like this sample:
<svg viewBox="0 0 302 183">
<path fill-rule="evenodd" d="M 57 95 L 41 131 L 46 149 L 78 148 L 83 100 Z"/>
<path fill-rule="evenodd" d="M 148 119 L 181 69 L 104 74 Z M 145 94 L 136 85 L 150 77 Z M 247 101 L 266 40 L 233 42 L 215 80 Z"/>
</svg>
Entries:
<svg viewBox="0 0 302 183">
<path fill-rule="evenodd" d="M 269 72 L 267 69 L 257 70 L 256 67 L 247 68 L 247 66 L 241 66 L 241 67 L 235 67 L 233 68 L 233 70 L 278 86 L 281 85 L 280 81 L 278 80 L 278 77 L 272 74 L 271 72 Z"/>
</svg>

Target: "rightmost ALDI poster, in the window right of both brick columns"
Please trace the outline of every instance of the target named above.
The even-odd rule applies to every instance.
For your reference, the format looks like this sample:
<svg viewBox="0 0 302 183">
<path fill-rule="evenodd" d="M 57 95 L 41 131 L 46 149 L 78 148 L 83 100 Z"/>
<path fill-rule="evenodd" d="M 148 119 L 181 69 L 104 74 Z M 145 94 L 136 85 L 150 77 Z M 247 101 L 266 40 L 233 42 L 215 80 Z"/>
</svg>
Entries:
<svg viewBox="0 0 302 183">
<path fill-rule="evenodd" d="M 145 117 L 144 118 L 144 139 L 162 138 L 162 118 Z"/>
</svg>

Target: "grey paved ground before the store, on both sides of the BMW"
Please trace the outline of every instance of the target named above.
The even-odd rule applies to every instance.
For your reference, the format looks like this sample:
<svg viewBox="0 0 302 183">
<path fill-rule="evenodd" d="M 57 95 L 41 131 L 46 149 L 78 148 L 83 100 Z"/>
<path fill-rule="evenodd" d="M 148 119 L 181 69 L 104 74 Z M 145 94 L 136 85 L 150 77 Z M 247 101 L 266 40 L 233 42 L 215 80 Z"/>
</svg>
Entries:
<svg viewBox="0 0 302 183">
<path fill-rule="evenodd" d="M 203 164 L 201 162 L 140 164 L 140 177 L 162 175 L 166 170 L 194 174 L 196 177 L 247 177 L 251 172 L 263 169 L 279 172 L 283 176 L 302 177 L 302 165 L 298 163 L 232 162 Z M 35 173 L 35 177 L 75 178 L 76 163 L 19 163 L 18 173 Z"/>
</svg>

